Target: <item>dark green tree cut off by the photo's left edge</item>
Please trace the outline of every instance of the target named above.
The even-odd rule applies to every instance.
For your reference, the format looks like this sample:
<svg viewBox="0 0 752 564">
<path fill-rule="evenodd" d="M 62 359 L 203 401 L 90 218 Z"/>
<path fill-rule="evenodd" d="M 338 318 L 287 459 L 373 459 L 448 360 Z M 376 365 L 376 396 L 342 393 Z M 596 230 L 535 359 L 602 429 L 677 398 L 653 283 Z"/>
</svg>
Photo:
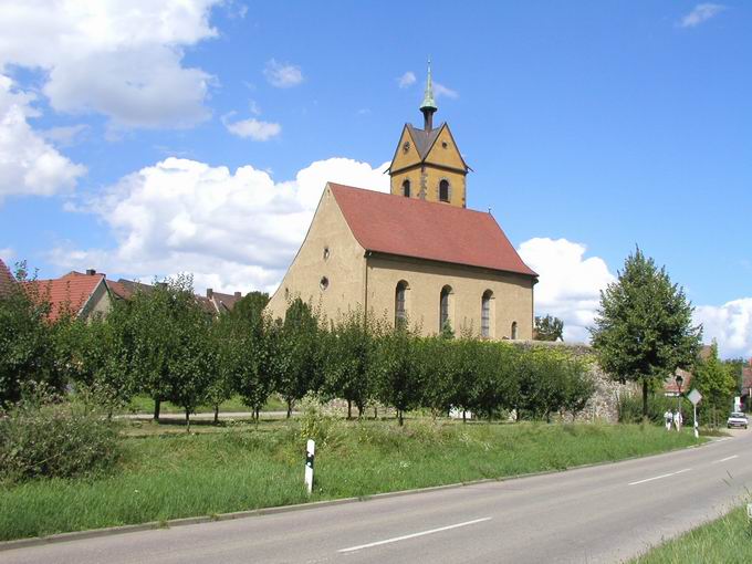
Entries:
<svg viewBox="0 0 752 564">
<path fill-rule="evenodd" d="M 28 383 L 49 383 L 50 303 L 28 284 L 25 263 L 17 270 L 18 284 L 0 295 L 0 407 L 15 403 Z"/>
</svg>

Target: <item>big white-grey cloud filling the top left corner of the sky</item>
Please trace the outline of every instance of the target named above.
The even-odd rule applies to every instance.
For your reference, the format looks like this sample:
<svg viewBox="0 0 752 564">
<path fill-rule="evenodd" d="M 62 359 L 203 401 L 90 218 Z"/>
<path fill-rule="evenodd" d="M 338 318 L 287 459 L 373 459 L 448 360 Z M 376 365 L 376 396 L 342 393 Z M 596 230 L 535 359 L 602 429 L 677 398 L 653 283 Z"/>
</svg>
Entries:
<svg viewBox="0 0 752 564">
<path fill-rule="evenodd" d="M 212 38 L 219 0 L 0 0 L 0 71 L 45 72 L 60 112 L 97 112 L 116 127 L 190 126 L 212 77 L 182 65 L 184 49 Z"/>
</svg>

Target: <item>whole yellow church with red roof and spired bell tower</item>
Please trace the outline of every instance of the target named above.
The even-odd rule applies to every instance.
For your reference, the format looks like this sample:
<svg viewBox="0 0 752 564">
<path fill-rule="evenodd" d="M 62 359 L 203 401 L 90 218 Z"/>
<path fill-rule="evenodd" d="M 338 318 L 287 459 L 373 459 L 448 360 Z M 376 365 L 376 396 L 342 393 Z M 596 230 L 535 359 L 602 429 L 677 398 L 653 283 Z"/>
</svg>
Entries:
<svg viewBox="0 0 752 564">
<path fill-rule="evenodd" d="M 409 323 L 430 335 L 450 326 L 484 338 L 533 336 L 537 274 L 490 212 L 467 209 L 467 175 L 437 111 L 430 67 L 420 111 L 388 169 L 390 194 L 328 182 L 309 232 L 268 311 L 295 297 L 336 321 L 348 311 Z"/>
</svg>

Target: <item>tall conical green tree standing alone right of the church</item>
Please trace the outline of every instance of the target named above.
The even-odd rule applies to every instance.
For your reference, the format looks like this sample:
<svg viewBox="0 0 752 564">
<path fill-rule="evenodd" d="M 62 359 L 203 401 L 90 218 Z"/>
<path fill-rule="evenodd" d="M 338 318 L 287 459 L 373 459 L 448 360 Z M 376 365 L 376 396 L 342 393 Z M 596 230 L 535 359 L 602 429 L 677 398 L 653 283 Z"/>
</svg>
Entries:
<svg viewBox="0 0 752 564">
<path fill-rule="evenodd" d="M 651 386 L 694 363 L 702 327 L 692 325 L 692 311 L 683 290 L 639 248 L 618 280 L 600 292 L 593 346 L 615 378 L 641 383 L 645 418 Z"/>
</svg>

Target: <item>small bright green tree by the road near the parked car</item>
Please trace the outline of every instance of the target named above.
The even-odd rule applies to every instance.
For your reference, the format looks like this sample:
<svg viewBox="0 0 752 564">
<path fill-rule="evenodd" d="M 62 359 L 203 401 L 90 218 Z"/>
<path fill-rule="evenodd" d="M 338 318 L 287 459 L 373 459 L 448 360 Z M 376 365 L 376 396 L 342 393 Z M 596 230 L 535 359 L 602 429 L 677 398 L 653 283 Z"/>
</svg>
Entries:
<svg viewBox="0 0 752 564">
<path fill-rule="evenodd" d="M 731 410 L 734 394 L 739 389 L 733 368 L 733 365 L 719 359 L 718 344 L 713 341 L 710 355 L 700 359 L 694 369 L 692 386 L 702 394 L 699 408 L 713 427 L 719 425 L 719 414 L 724 418 Z"/>
</svg>

